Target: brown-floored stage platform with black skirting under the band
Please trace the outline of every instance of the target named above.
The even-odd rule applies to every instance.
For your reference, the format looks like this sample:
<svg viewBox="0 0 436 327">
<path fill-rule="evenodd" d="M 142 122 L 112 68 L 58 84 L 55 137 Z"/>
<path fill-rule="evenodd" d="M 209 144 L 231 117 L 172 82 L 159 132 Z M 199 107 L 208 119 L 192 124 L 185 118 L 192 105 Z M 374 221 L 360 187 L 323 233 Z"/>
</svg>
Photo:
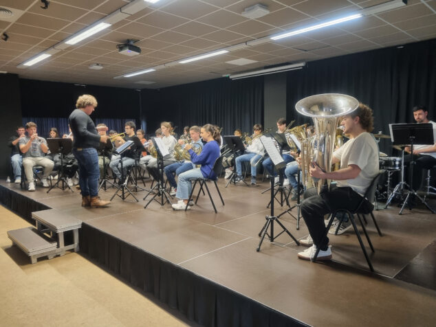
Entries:
<svg viewBox="0 0 436 327">
<path fill-rule="evenodd" d="M 188 212 L 155 202 L 144 210 L 145 192 L 137 193 L 139 203 L 117 196 L 98 209 L 81 207 L 78 192 L 28 192 L 5 181 L 0 196 L 24 218 L 47 208 L 76 216 L 83 221 L 81 253 L 204 326 L 434 326 L 436 215 L 425 207 L 402 216 L 396 206 L 375 212 L 384 236 L 369 220 L 371 273 L 353 232 L 329 236 L 331 262 L 298 260 L 305 247 L 286 234 L 276 243 L 265 240 L 257 252 L 270 213 L 270 193 L 261 194 L 268 183 L 224 185 L 221 179 L 226 205 L 212 191 L 217 214 L 207 195 Z M 275 207 L 276 214 L 285 210 Z M 303 219 L 296 230 L 292 216 L 282 218 L 296 238 L 307 236 Z"/>
</svg>

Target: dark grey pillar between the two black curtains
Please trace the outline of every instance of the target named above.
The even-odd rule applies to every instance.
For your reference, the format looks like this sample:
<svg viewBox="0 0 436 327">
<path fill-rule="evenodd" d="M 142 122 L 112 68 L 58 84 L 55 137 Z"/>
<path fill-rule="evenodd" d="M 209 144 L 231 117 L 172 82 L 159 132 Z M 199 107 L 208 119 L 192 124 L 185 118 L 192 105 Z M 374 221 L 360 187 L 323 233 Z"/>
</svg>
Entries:
<svg viewBox="0 0 436 327">
<path fill-rule="evenodd" d="M 265 75 L 264 82 L 263 124 L 276 131 L 277 120 L 286 117 L 286 73 Z"/>
</svg>

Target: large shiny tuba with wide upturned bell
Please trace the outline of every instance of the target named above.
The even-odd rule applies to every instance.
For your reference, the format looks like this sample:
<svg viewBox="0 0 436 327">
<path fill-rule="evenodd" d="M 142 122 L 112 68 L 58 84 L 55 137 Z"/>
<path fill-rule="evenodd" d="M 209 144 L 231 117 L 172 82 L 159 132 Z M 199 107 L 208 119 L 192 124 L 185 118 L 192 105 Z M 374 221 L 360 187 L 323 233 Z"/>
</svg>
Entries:
<svg viewBox="0 0 436 327">
<path fill-rule="evenodd" d="M 296 103 L 295 109 L 298 113 L 312 117 L 316 132 L 313 145 L 308 147 L 306 153 L 303 150 L 302 171 L 304 169 L 303 161 L 305 163 L 314 162 L 325 172 L 331 171 L 331 157 L 336 141 L 338 120 L 341 116 L 349 115 L 349 113 L 355 111 L 358 105 L 359 102 L 355 98 L 336 93 L 311 95 Z M 303 156 L 305 157 L 303 158 Z M 308 170 L 304 174 L 306 179 L 307 175 L 309 175 Z M 330 181 L 327 179 L 313 178 L 313 181 L 318 193 L 320 193 L 321 189 L 328 188 L 330 185 Z"/>
</svg>

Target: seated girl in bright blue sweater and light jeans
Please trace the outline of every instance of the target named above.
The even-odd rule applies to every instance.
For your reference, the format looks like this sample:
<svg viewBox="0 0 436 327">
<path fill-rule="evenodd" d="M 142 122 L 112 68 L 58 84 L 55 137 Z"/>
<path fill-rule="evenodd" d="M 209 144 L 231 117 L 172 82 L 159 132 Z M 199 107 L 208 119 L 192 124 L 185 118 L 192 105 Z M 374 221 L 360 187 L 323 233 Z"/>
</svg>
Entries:
<svg viewBox="0 0 436 327">
<path fill-rule="evenodd" d="M 206 142 L 203 150 L 197 155 L 190 144 L 186 144 L 186 149 L 189 150 L 190 159 L 195 165 L 201 165 L 201 168 L 195 168 L 179 174 L 179 182 L 177 183 L 177 192 L 175 196 L 180 199 L 173 204 L 174 210 L 185 210 L 189 201 L 189 195 L 192 190 L 191 179 L 201 177 L 216 178 L 213 172 L 215 161 L 219 158 L 219 129 L 212 124 L 206 124 L 201 127 L 201 138 Z M 188 210 L 190 205 L 188 205 Z"/>
</svg>

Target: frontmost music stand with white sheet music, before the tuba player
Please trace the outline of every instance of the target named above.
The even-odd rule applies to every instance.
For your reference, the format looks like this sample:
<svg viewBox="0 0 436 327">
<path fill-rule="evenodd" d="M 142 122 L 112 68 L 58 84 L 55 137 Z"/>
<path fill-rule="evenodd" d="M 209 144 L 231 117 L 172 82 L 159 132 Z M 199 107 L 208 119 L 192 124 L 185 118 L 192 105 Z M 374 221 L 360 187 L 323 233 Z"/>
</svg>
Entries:
<svg viewBox="0 0 436 327">
<path fill-rule="evenodd" d="M 268 144 L 266 144 L 266 142 L 264 143 L 262 141 L 262 137 L 261 137 L 261 142 L 262 142 L 263 146 L 265 147 L 265 151 L 268 153 L 268 155 L 272 159 L 272 162 L 273 162 L 276 170 L 279 171 L 279 170 L 285 168 L 285 166 L 286 166 L 285 161 L 283 160 L 283 158 L 281 158 L 281 155 L 279 154 L 279 151 L 277 151 L 275 146 L 273 145 L 273 148 L 268 146 Z M 276 153 L 273 153 L 274 150 L 276 151 Z M 280 156 L 281 161 L 279 160 L 278 156 Z M 275 158 L 277 158 L 277 160 Z M 270 180 L 271 180 L 271 188 L 270 188 L 270 190 L 271 190 L 271 200 L 270 200 L 271 211 L 270 211 L 270 216 L 268 216 L 268 215 L 265 216 L 266 223 L 265 223 L 265 225 L 263 225 L 261 232 L 259 232 L 259 236 L 261 236 L 261 241 L 259 242 L 259 246 L 256 249 L 256 251 L 258 251 L 258 252 L 261 250 L 261 245 L 262 245 L 263 239 L 265 238 L 265 235 L 268 234 L 268 227 L 270 227 L 270 233 L 268 234 L 268 238 L 270 239 L 270 242 L 274 242 L 274 240 L 276 238 L 278 238 L 279 236 L 281 236 L 281 234 L 286 232 L 286 234 L 289 235 L 294 240 L 296 245 L 300 245 L 298 240 L 296 240 L 296 238 L 294 238 L 294 236 L 292 236 L 292 234 L 287 230 L 287 228 L 281 223 L 281 221 L 279 220 L 279 217 L 274 216 L 274 177 L 270 176 Z M 279 226 L 283 229 L 283 231 L 281 231 L 276 236 L 274 236 L 274 221 L 276 223 L 278 223 Z"/>
</svg>

